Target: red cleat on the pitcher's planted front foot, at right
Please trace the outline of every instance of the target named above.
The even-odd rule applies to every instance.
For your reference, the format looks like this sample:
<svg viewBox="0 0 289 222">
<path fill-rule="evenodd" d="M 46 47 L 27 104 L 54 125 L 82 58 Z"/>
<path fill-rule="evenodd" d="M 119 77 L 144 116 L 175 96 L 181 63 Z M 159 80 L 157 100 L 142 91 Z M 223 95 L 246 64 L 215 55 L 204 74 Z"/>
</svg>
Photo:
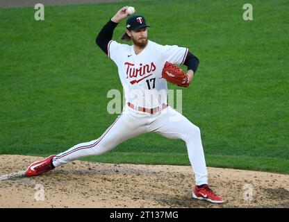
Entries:
<svg viewBox="0 0 289 222">
<path fill-rule="evenodd" d="M 198 200 L 207 200 L 210 203 L 224 203 L 224 200 L 221 196 L 214 194 L 208 185 L 204 185 L 201 188 L 195 187 L 195 190 L 192 192 L 192 197 Z"/>
</svg>

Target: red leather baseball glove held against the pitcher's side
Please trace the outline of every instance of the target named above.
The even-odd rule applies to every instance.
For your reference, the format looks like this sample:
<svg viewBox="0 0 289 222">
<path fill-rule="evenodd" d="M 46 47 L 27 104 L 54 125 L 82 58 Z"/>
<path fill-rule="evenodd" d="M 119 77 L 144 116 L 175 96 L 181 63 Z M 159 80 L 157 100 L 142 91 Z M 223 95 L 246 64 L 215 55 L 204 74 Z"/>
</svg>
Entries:
<svg viewBox="0 0 289 222">
<path fill-rule="evenodd" d="M 181 87 L 188 87 L 190 85 L 188 75 L 185 74 L 180 67 L 172 64 L 171 62 L 165 62 L 162 76 L 168 82 L 179 85 Z"/>
</svg>

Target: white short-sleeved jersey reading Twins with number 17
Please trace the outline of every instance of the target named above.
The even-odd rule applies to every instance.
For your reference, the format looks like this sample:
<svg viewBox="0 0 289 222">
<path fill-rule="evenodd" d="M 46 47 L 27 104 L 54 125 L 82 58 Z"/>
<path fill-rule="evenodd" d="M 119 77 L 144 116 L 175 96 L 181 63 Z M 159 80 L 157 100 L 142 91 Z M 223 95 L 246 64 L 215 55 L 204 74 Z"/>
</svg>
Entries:
<svg viewBox="0 0 289 222">
<path fill-rule="evenodd" d="M 162 78 L 165 62 L 181 65 L 187 55 L 187 48 L 163 46 L 150 40 L 138 55 L 133 46 L 114 40 L 108 43 L 108 57 L 117 65 L 126 102 L 145 108 L 167 103 L 167 81 Z"/>
</svg>

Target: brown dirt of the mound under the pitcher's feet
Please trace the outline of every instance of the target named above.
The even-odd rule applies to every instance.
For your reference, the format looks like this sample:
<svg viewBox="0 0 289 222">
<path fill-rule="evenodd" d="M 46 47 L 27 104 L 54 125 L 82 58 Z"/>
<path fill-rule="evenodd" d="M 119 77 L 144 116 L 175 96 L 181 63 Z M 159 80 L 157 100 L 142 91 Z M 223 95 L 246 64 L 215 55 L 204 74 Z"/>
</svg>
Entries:
<svg viewBox="0 0 289 222">
<path fill-rule="evenodd" d="M 0 155 L 0 175 L 42 157 Z M 191 167 L 75 161 L 33 178 L 0 181 L 0 207 L 289 207 L 289 175 L 208 168 L 210 187 L 224 204 L 191 198 Z M 43 185 L 44 200 L 35 200 Z M 244 185 L 253 200 L 243 200 Z"/>
</svg>

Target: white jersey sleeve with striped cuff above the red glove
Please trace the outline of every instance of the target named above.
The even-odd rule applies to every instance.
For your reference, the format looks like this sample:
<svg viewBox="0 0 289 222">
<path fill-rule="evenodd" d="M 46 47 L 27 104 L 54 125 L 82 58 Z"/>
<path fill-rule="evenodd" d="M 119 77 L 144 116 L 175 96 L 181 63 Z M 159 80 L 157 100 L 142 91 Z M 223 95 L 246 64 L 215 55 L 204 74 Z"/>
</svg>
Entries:
<svg viewBox="0 0 289 222">
<path fill-rule="evenodd" d="M 163 46 L 164 58 L 167 62 L 172 62 L 176 65 L 183 65 L 185 58 L 188 56 L 188 48 L 180 46 Z"/>
</svg>

